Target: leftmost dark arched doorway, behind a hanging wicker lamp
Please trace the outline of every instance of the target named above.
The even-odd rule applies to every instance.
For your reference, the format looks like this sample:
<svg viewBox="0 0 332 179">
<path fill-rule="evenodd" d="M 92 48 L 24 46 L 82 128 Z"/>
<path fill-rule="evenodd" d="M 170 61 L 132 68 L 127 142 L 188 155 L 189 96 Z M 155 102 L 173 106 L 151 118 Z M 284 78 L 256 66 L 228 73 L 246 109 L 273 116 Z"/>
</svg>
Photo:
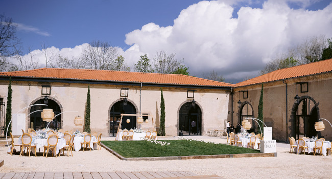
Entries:
<svg viewBox="0 0 332 179">
<path fill-rule="evenodd" d="M 43 99 L 37 100 L 33 104 L 44 104 L 44 100 Z M 32 113 L 30 115 L 30 128 L 38 130 L 45 128 L 48 125 L 48 123 L 46 123 L 41 119 L 41 111 L 33 113 L 36 110 L 42 110 L 44 108 L 53 109 L 54 116 L 61 113 L 59 104 L 53 101 L 52 99 L 48 100 L 47 106 L 44 105 L 32 106 L 30 109 L 30 113 Z M 53 130 L 61 129 L 61 115 L 57 116 L 53 121 L 51 121 L 48 127 Z"/>
</svg>

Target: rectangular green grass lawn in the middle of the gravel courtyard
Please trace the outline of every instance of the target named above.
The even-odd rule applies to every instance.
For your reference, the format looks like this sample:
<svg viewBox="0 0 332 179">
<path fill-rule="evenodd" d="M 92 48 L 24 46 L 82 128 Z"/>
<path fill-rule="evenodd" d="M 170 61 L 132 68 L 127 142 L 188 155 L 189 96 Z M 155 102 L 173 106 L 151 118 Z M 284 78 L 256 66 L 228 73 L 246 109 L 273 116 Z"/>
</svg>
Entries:
<svg viewBox="0 0 332 179">
<path fill-rule="evenodd" d="M 259 150 L 226 144 L 190 140 L 163 140 L 162 142 L 168 142 L 170 145 L 161 146 L 151 141 L 102 141 L 108 148 L 125 158 L 259 153 Z"/>
</svg>

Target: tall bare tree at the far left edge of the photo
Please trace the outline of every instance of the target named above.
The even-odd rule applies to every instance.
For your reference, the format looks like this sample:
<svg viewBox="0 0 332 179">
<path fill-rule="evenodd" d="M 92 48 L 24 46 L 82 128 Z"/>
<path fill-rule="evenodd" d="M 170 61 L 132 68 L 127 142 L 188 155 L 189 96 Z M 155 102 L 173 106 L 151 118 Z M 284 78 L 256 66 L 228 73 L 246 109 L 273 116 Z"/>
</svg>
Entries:
<svg viewBox="0 0 332 179">
<path fill-rule="evenodd" d="M 0 70 L 12 71 L 15 65 L 10 56 L 15 55 L 15 48 L 20 48 L 20 41 L 16 37 L 16 26 L 13 25 L 12 18 L 0 14 Z"/>
</svg>

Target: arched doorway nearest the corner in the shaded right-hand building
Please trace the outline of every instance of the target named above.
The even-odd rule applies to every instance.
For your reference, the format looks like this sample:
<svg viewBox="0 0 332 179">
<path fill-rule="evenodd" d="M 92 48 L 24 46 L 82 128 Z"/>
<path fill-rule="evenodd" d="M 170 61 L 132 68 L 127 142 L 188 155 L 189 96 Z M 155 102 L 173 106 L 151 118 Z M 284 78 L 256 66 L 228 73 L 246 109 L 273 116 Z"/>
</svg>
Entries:
<svg viewBox="0 0 332 179">
<path fill-rule="evenodd" d="M 246 118 L 254 118 L 254 109 L 250 102 L 244 101 L 239 109 L 239 123 L 242 125 L 242 121 Z M 251 122 L 251 128 L 247 130 L 248 132 L 255 132 L 255 122 L 253 120 L 249 119 L 249 122 Z M 237 124 L 233 124 L 236 126 Z"/>
</svg>

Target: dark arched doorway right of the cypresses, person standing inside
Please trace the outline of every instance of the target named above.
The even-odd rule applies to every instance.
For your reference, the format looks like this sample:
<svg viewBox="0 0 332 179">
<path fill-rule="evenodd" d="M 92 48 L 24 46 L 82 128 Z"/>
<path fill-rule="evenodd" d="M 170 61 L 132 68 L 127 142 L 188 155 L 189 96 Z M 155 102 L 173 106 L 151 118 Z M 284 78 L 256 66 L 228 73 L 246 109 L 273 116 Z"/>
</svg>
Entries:
<svg viewBox="0 0 332 179">
<path fill-rule="evenodd" d="M 179 133 L 183 135 L 202 135 L 202 111 L 192 102 L 184 103 L 179 111 Z"/>
</svg>

